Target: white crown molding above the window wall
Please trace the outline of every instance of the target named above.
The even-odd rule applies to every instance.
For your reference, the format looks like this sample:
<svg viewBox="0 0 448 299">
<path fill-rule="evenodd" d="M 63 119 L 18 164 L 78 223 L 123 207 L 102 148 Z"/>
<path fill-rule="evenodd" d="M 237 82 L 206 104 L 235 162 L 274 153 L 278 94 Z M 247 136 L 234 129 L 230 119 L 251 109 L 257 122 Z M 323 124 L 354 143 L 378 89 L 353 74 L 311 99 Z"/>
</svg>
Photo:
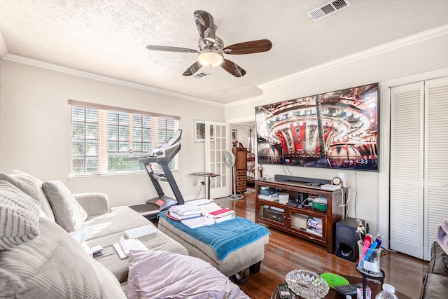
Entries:
<svg viewBox="0 0 448 299">
<path fill-rule="evenodd" d="M 1 46 L 1 44 L 0 44 L 0 46 Z M 168 90 L 161 90 L 161 89 L 158 89 L 158 88 L 153 88 L 153 87 L 148 86 L 148 85 L 142 85 L 142 84 L 132 83 L 132 82 L 129 82 L 129 81 L 124 81 L 124 80 L 120 80 L 120 79 L 116 79 L 116 78 L 111 78 L 111 77 L 107 77 L 107 76 L 97 75 L 97 74 L 89 73 L 87 71 L 80 71 L 78 69 L 71 69 L 69 67 L 62 67 L 62 66 L 57 65 L 57 64 L 50 64 L 48 62 L 41 62 L 39 60 L 32 60 L 30 58 L 22 57 L 22 56 L 18 56 L 18 55 L 12 55 L 12 54 L 8 54 L 7 53 L 3 57 L 3 59 L 4 60 L 9 60 L 9 61 L 12 61 L 12 62 L 19 62 L 19 63 L 22 63 L 22 64 L 29 64 L 31 66 L 40 67 L 42 69 L 49 69 L 51 71 L 58 71 L 58 72 L 64 73 L 64 74 L 71 74 L 73 76 L 89 78 L 89 79 L 92 79 L 92 80 L 102 81 L 102 82 L 106 82 L 106 83 L 112 83 L 112 84 L 116 84 L 116 85 L 122 85 L 122 86 L 125 86 L 125 87 L 135 88 L 135 89 L 139 89 L 139 90 L 146 90 L 146 91 L 149 91 L 149 92 L 155 92 L 155 93 L 158 93 L 160 95 L 168 95 L 170 97 L 178 97 L 180 99 L 188 99 L 190 101 L 200 102 L 202 104 L 208 104 L 208 105 L 212 105 L 212 106 L 224 107 L 223 104 L 210 102 L 210 101 L 207 101 L 205 99 L 200 99 L 200 98 L 197 98 L 197 97 L 190 97 L 188 95 L 182 95 L 182 94 L 177 93 L 177 92 L 170 92 Z"/>
</svg>

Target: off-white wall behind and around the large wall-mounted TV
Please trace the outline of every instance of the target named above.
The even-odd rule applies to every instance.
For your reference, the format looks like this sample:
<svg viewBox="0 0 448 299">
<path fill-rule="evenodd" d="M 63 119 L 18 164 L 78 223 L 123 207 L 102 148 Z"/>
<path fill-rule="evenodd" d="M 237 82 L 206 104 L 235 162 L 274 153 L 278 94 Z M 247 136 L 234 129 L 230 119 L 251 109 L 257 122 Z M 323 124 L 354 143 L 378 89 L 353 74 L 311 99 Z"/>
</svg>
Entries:
<svg viewBox="0 0 448 299">
<path fill-rule="evenodd" d="M 254 106 L 295 99 L 308 95 L 316 95 L 333 90 L 341 90 L 368 83 L 388 81 L 412 74 L 419 74 L 435 69 L 448 67 L 448 34 L 425 33 L 420 39 L 412 37 L 412 41 L 395 42 L 387 47 L 377 50 L 358 53 L 353 57 L 344 57 L 335 62 L 305 70 L 302 73 L 266 83 L 260 87 L 262 97 L 252 102 L 241 102 L 240 105 L 228 106 L 225 109 L 225 118 L 244 119 L 253 118 Z M 413 42 L 415 41 L 415 42 Z M 376 51 L 376 53 L 375 53 Z M 380 105 L 381 105 L 381 99 Z M 381 118 L 381 115 L 379 116 Z M 379 146 L 384 142 L 379 128 Z M 379 159 L 381 159 L 381 152 Z M 381 162 L 381 161 L 380 161 Z M 332 179 L 337 175 L 337 169 L 318 169 L 305 167 L 282 167 L 262 165 L 263 175 L 292 174 L 318 179 Z M 370 225 L 372 233 L 376 234 L 379 228 L 379 201 L 388 198 L 379 198 L 379 177 L 382 172 L 345 171 L 346 185 L 350 187 L 349 216 L 365 219 Z M 356 210 L 355 210 L 356 204 Z M 380 232 L 381 235 L 386 232 Z"/>
</svg>

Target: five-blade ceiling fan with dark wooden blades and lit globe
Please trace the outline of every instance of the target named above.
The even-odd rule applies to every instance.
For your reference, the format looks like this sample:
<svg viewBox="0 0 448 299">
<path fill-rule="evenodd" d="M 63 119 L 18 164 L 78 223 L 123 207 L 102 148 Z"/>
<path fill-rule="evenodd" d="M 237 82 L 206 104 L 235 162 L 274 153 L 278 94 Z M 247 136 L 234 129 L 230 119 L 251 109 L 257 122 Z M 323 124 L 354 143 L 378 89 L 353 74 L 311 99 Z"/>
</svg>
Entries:
<svg viewBox="0 0 448 299">
<path fill-rule="evenodd" d="M 242 77 L 246 74 L 235 62 L 226 60 L 223 54 L 241 55 L 269 51 L 272 48 L 271 41 L 260 39 L 258 41 L 246 41 L 245 43 L 235 43 L 232 46 L 224 47 L 223 41 L 216 36 L 216 26 L 213 17 L 207 11 L 195 11 L 195 22 L 200 39 L 197 42 L 197 50 L 170 46 L 148 45 L 146 48 L 156 51 L 198 53 L 197 62 L 192 64 L 183 76 L 191 76 L 200 70 L 201 67 L 218 67 L 228 71 L 235 77 Z"/>
</svg>

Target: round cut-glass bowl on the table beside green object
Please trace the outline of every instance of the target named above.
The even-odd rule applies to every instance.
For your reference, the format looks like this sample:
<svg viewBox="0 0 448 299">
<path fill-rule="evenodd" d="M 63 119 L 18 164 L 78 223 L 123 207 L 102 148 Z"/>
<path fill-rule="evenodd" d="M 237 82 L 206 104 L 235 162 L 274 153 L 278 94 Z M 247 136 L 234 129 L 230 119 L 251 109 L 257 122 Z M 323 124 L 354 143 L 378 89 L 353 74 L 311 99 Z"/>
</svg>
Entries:
<svg viewBox="0 0 448 299">
<path fill-rule="evenodd" d="M 315 272 L 293 270 L 286 274 L 286 283 L 291 291 L 306 299 L 321 299 L 328 294 L 330 286 Z"/>
</svg>

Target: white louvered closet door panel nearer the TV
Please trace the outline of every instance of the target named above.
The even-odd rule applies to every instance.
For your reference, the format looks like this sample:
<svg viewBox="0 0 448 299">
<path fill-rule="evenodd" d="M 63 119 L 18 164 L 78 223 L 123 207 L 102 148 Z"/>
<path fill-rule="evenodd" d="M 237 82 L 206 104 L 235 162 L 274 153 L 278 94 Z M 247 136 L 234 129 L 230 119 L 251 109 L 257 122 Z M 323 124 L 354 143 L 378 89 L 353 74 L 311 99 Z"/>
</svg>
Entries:
<svg viewBox="0 0 448 299">
<path fill-rule="evenodd" d="M 423 258 L 424 84 L 391 89 L 391 249 Z M 448 117 L 448 116 L 447 116 Z"/>
</svg>

